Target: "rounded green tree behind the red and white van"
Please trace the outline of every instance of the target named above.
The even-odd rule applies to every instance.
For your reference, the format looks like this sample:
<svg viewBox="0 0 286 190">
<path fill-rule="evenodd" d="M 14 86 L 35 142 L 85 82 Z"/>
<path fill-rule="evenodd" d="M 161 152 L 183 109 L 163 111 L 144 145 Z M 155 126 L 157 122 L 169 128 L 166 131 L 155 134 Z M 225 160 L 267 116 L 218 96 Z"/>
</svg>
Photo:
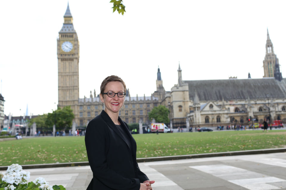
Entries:
<svg viewBox="0 0 286 190">
<path fill-rule="evenodd" d="M 154 107 L 151 112 L 148 113 L 149 120 L 152 121 L 154 118 L 158 123 L 165 123 L 168 124 L 169 120 L 169 109 L 163 105 L 159 105 L 158 107 Z"/>
</svg>

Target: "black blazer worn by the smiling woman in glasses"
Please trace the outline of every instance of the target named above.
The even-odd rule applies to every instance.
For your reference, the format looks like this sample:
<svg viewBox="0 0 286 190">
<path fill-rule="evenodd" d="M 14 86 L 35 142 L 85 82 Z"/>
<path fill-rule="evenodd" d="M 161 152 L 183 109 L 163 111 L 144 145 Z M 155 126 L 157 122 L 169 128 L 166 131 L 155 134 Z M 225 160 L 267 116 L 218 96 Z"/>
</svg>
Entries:
<svg viewBox="0 0 286 190">
<path fill-rule="evenodd" d="M 86 127 L 86 152 L 93 172 L 88 190 L 139 190 L 140 183 L 149 180 L 136 162 L 137 146 L 127 124 L 120 117 L 118 120 L 131 147 L 104 110 Z"/>
</svg>

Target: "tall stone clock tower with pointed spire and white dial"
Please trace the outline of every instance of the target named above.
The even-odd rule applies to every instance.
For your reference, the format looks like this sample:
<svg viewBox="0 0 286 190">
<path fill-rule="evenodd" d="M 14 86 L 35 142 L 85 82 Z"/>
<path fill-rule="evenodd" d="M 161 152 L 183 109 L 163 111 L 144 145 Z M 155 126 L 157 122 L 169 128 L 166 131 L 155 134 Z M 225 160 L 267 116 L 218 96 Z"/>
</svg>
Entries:
<svg viewBox="0 0 286 190">
<path fill-rule="evenodd" d="M 75 114 L 79 99 L 78 63 L 80 52 L 77 33 L 72 24 L 69 4 L 63 18 L 63 27 L 59 31 L 57 39 L 58 106 L 61 108 L 71 106 Z"/>
</svg>

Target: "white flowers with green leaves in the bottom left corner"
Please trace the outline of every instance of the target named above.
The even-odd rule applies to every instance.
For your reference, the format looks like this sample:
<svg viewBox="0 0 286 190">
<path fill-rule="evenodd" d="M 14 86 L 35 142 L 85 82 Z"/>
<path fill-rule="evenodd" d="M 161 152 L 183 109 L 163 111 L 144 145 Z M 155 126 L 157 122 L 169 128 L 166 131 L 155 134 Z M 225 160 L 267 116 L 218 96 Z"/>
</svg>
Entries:
<svg viewBox="0 0 286 190">
<path fill-rule="evenodd" d="M 0 190 L 65 190 L 62 185 L 49 186 L 44 178 L 37 178 L 35 181 L 27 182 L 30 179 L 30 172 L 25 172 L 19 164 L 8 166 L 5 174 L 0 174 Z"/>
</svg>

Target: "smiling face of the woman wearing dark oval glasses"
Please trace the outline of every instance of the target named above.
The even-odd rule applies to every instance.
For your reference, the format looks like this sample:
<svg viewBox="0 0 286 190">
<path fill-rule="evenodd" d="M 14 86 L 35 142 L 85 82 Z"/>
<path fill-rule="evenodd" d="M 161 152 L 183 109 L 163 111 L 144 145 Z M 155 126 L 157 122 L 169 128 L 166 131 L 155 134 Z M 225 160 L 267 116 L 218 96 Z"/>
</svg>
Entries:
<svg viewBox="0 0 286 190">
<path fill-rule="evenodd" d="M 124 92 L 123 84 L 119 81 L 111 81 L 106 84 L 104 93 L 107 93 L 109 91 L 115 92 L 115 93 Z M 124 104 L 125 96 L 122 98 L 119 98 L 117 94 L 115 94 L 115 96 L 111 98 L 107 96 L 107 94 L 103 94 L 103 95 L 100 94 L 100 99 L 101 99 L 101 102 L 104 103 L 104 106 L 105 106 L 104 110 L 107 114 L 118 113 L 120 108 Z"/>
</svg>

